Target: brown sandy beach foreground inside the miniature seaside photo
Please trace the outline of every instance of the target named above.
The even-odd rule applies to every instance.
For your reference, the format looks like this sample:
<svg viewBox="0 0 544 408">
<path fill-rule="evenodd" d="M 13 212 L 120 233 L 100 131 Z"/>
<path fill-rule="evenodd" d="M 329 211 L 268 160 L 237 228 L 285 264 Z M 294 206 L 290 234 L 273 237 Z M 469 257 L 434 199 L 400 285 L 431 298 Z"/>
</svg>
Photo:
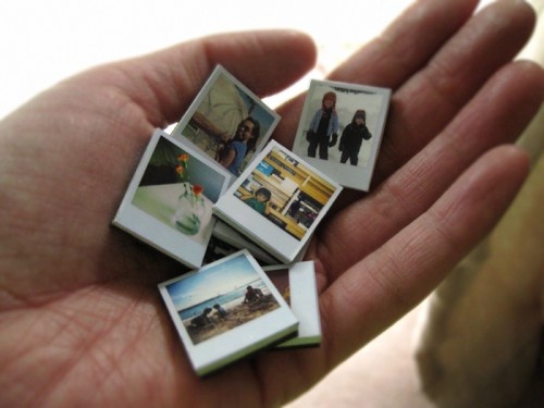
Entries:
<svg viewBox="0 0 544 408">
<path fill-rule="evenodd" d="M 211 322 L 203 326 L 190 326 L 190 321 L 184 322 L 184 324 L 193 343 L 198 344 L 208 338 L 227 332 L 231 329 L 239 326 L 240 324 L 249 322 L 262 314 L 268 313 L 269 311 L 277 309 L 279 307 L 280 304 L 277 304 L 272 295 L 265 295 L 262 299 L 254 304 L 240 302 L 226 309 L 227 314 L 224 318 L 221 318 L 217 313 L 210 313 L 209 318 Z"/>
</svg>

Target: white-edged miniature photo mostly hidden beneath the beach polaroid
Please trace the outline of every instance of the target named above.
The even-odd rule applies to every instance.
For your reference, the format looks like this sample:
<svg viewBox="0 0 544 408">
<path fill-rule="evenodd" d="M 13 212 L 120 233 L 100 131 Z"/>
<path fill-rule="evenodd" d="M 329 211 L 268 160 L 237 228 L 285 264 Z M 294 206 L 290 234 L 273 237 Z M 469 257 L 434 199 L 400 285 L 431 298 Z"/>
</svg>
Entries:
<svg viewBox="0 0 544 408">
<path fill-rule="evenodd" d="M 316 347 L 321 344 L 321 318 L 313 261 L 263 268 L 298 319 L 296 337 L 276 347 Z"/>
</svg>

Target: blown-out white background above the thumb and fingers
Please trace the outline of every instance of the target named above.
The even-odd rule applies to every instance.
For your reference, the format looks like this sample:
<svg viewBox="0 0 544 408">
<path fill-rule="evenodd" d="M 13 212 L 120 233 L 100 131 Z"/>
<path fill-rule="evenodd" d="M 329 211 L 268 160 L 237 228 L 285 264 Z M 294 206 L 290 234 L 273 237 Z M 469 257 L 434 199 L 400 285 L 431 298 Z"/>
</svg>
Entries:
<svg viewBox="0 0 544 408">
<path fill-rule="evenodd" d="M 89 66 L 215 33 L 251 28 L 309 33 L 320 49 L 311 76 L 320 78 L 411 2 L 2 1 L 0 119 L 44 88 Z M 307 85 L 300 82 L 277 100 Z"/>
</svg>

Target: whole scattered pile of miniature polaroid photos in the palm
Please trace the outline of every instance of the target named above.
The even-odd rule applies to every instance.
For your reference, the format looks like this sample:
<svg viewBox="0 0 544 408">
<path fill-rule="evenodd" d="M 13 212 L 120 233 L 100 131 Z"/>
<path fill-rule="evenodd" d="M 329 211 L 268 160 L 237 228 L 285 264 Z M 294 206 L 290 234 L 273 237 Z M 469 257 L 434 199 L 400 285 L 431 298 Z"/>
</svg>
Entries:
<svg viewBox="0 0 544 408">
<path fill-rule="evenodd" d="M 218 66 L 172 133 L 153 133 L 112 223 L 184 265 L 159 287 L 198 374 L 319 346 L 301 259 L 343 187 L 368 190 L 390 98 L 312 81 L 288 150 L 269 140 L 280 116 Z"/>
</svg>

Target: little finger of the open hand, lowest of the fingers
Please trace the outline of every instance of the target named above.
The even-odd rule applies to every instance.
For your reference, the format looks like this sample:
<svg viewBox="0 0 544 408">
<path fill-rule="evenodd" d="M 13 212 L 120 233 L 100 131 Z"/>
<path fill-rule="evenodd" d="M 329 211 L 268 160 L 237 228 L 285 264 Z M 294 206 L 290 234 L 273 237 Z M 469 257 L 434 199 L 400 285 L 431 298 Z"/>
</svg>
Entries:
<svg viewBox="0 0 544 408">
<path fill-rule="evenodd" d="M 346 357 L 421 301 L 493 227 L 528 169 L 519 148 L 494 149 L 428 211 L 337 280 L 321 296 L 332 360 Z"/>
</svg>

